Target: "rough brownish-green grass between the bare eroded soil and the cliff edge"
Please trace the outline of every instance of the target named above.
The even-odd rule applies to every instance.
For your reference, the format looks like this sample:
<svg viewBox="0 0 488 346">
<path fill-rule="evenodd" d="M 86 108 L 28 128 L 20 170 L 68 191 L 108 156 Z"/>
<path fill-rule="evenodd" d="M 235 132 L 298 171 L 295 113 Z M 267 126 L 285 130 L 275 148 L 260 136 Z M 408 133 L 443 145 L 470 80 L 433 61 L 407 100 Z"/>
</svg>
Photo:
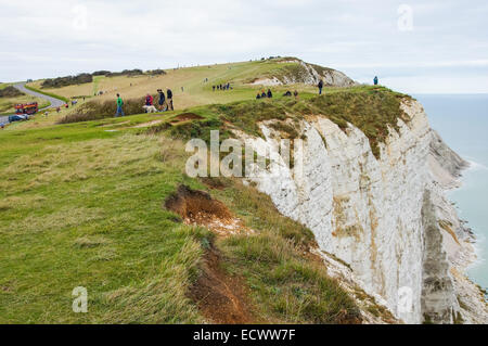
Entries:
<svg viewBox="0 0 488 346">
<path fill-rule="evenodd" d="M 326 274 L 320 259 L 306 255 L 313 234 L 277 213 L 269 196 L 230 180 L 216 191 L 246 225 L 253 236 L 231 236 L 217 244 L 227 269 L 246 278 L 259 318 L 279 323 L 346 323 L 359 317 L 354 300 Z"/>
</svg>

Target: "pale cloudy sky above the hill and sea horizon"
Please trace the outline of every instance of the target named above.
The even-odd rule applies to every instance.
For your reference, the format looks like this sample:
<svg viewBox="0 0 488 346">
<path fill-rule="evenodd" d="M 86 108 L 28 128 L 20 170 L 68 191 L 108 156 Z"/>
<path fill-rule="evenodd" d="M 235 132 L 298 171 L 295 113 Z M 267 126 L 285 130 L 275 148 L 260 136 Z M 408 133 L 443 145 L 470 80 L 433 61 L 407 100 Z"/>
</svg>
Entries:
<svg viewBox="0 0 488 346">
<path fill-rule="evenodd" d="M 0 81 L 297 56 L 409 93 L 488 93 L 486 0 L 0 0 Z"/>
</svg>

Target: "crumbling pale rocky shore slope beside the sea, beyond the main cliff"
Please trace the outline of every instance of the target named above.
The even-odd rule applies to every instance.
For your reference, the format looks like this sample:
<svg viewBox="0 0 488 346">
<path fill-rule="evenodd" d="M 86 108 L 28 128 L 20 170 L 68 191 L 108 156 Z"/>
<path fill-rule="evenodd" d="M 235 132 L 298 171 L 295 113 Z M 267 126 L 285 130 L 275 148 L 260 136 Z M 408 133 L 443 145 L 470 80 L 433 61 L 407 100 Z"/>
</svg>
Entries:
<svg viewBox="0 0 488 346">
<path fill-rule="evenodd" d="M 432 130 L 428 165 L 432 175 L 433 200 L 441 233 L 442 249 L 450 262 L 449 275 L 453 284 L 457 320 L 462 323 L 488 322 L 488 305 L 480 285 L 467 275 L 470 266 L 478 260 L 476 244 L 478 239 L 461 219 L 459 206 L 452 202 L 449 192 L 463 185 L 462 178 L 474 167 L 472 163 L 455 153 L 435 131 Z"/>
</svg>

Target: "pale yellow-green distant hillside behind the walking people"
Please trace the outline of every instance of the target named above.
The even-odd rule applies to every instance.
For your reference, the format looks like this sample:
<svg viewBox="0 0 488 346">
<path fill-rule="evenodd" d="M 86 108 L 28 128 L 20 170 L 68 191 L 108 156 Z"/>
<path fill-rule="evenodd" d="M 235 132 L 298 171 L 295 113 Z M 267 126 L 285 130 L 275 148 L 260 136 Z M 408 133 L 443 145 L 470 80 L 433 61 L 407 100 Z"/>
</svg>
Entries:
<svg viewBox="0 0 488 346">
<path fill-rule="evenodd" d="M 162 76 L 98 76 L 93 79 L 93 82 L 42 90 L 65 98 L 92 97 L 94 100 L 103 102 L 106 100 L 113 101 L 116 93 L 120 93 L 124 99 L 138 99 L 147 93 L 156 93 L 159 88 L 170 88 L 175 93 L 176 108 L 183 110 L 195 105 L 228 103 L 254 98 L 257 91 L 264 88 L 252 87 L 247 82 L 258 77 L 279 74 L 290 65 L 297 64 L 283 64 L 280 60 L 267 60 L 178 69 L 169 68 L 166 69 L 167 74 Z M 208 78 L 208 82 L 204 81 L 206 78 Z M 29 85 L 40 88 L 42 81 L 38 80 Z M 234 90 L 232 92 L 211 91 L 213 85 L 224 82 L 231 82 Z M 299 87 L 307 91 L 313 90 L 311 87 Z M 278 88 L 280 91 L 287 89 L 290 88 Z M 93 97 L 99 91 L 103 91 L 104 94 Z"/>
</svg>

